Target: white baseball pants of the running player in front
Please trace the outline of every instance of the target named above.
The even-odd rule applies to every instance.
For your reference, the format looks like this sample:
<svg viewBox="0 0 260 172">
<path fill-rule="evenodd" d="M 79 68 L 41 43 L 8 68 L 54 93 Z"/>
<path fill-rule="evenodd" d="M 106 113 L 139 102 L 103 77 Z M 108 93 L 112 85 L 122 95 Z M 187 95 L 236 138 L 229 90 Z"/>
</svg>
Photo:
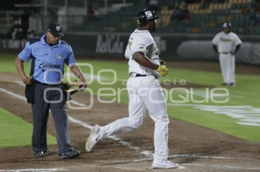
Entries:
<svg viewBox="0 0 260 172">
<path fill-rule="evenodd" d="M 129 116 L 101 127 L 100 137 L 132 131 L 142 125 L 146 108 L 155 123 L 154 129 L 154 162 L 168 159 L 168 124 L 166 100 L 160 84 L 153 75 L 128 79 Z"/>
</svg>

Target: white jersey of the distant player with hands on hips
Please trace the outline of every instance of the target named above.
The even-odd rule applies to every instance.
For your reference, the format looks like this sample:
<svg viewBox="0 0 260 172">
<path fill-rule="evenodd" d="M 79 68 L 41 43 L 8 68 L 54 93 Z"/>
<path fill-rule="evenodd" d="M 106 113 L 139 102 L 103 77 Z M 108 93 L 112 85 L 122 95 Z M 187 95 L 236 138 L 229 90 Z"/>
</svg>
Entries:
<svg viewBox="0 0 260 172">
<path fill-rule="evenodd" d="M 212 40 L 214 45 L 217 45 L 219 53 L 234 52 L 236 46 L 242 44 L 240 38 L 233 32 L 225 34 L 223 31 L 218 33 Z"/>
</svg>

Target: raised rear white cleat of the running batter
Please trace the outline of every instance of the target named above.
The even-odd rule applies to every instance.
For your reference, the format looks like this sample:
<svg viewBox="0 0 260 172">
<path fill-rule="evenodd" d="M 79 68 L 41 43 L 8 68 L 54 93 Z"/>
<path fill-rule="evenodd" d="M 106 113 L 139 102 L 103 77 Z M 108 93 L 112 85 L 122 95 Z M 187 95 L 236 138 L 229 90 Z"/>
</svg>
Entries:
<svg viewBox="0 0 260 172">
<path fill-rule="evenodd" d="M 91 128 L 91 132 L 90 135 L 88 136 L 87 140 L 86 140 L 86 145 L 85 145 L 85 149 L 87 152 L 90 152 L 91 149 L 93 149 L 93 147 L 95 146 L 95 144 L 98 142 L 98 138 L 100 137 L 98 132 L 100 130 L 100 127 L 98 125 L 94 125 Z"/>
</svg>

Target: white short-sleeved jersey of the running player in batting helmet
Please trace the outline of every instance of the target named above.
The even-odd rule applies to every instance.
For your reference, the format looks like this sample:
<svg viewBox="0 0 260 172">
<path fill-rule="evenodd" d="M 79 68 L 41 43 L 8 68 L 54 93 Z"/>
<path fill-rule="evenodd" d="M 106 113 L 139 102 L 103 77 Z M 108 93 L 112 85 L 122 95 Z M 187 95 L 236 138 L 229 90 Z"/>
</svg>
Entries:
<svg viewBox="0 0 260 172">
<path fill-rule="evenodd" d="M 160 65 L 157 45 L 148 30 L 136 29 L 130 35 L 124 54 L 126 58 L 129 58 L 129 75 L 132 73 L 139 73 L 141 75 L 155 75 L 158 78 L 161 77 L 156 70 L 149 69 L 136 63 L 132 58 L 133 54 L 136 52 L 142 52 L 152 63 Z"/>
</svg>

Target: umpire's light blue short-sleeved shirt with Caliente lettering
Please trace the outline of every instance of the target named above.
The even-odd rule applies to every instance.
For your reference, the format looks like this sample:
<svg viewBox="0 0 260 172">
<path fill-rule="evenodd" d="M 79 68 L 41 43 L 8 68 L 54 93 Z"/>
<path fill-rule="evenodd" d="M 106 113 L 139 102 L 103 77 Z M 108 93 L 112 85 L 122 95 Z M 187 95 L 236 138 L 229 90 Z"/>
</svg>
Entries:
<svg viewBox="0 0 260 172">
<path fill-rule="evenodd" d="M 44 37 L 45 34 L 28 41 L 18 57 L 24 62 L 31 59 L 30 76 L 35 80 L 55 84 L 63 78 L 64 63 L 72 65 L 76 62 L 71 47 L 65 41 L 59 40 L 57 45 L 50 46 Z"/>
</svg>

